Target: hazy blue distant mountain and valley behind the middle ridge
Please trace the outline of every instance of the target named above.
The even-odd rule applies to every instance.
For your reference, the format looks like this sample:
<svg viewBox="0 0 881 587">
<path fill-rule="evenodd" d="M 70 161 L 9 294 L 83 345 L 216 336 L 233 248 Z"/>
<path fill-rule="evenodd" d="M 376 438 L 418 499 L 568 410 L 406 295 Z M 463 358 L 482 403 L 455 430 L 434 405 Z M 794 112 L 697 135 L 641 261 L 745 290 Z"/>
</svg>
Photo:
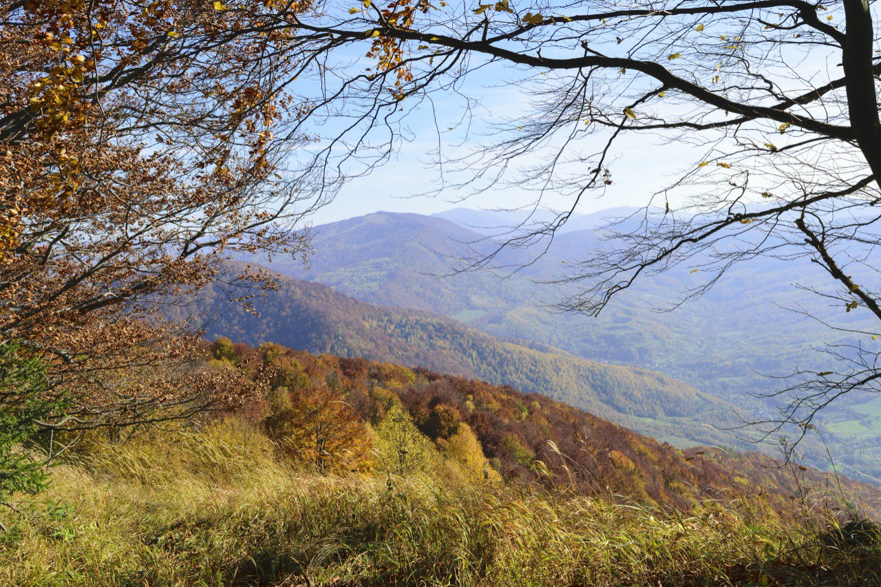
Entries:
<svg viewBox="0 0 881 587">
<path fill-rule="evenodd" d="M 463 211 L 444 215 L 471 226 L 492 221 L 488 212 L 471 220 Z M 502 223 L 508 220 L 497 219 L 496 226 L 507 226 Z M 589 216 L 575 220 L 602 223 Z M 830 334 L 785 309 L 802 304 L 828 311 L 821 305 L 825 302 L 789 286 L 822 278 L 808 263 L 755 260 L 733 268 L 704 298 L 658 312 L 700 283 L 700 274 L 671 271 L 620 294 L 602 316 L 589 318 L 548 311 L 543 306 L 574 290 L 536 280 L 558 276 L 564 262 L 589 254 L 597 246 L 595 230 L 559 234 L 536 264 L 506 279 L 480 271 L 448 275 L 456 259 L 472 248 L 489 250 L 493 242 L 435 217 L 379 212 L 317 227 L 313 242 L 308 269 L 278 260 L 268 266 L 359 300 L 439 312 L 501 338 L 657 369 L 722 396 L 739 398 L 744 390 L 770 388 L 775 382 L 759 374 L 785 375 L 795 364 L 812 360 L 811 345 Z M 534 258 L 532 251 L 510 249 L 499 263 L 517 266 Z M 769 348 L 774 353 L 766 352 Z"/>
</svg>

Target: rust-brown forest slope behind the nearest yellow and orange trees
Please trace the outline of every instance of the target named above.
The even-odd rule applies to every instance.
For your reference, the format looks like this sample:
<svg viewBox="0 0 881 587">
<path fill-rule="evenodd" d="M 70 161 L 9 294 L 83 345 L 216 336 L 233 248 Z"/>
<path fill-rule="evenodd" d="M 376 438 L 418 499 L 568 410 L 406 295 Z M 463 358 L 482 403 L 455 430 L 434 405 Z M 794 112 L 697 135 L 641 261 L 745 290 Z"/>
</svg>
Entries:
<svg viewBox="0 0 881 587">
<path fill-rule="evenodd" d="M 374 426 L 395 406 L 402 407 L 420 432 L 443 446 L 464 423 L 507 482 L 538 482 L 678 509 L 687 509 L 700 494 L 722 496 L 728 490 L 753 498 L 770 494 L 777 507 L 784 507 L 799 486 L 844 489 L 857 500 L 865 497 L 867 507 L 877 494 L 877 488 L 850 479 L 836 487 L 831 473 L 781 466 L 755 452 L 677 450 L 546 394 L 508 385 L 358 356 L 316 355 L 272 343 L 255 349 L 218 340 L 211 352 L 219 360 L 255 377 L 263 373 L 273 389 L 283 387 L 293 398 L 329 387 Z"/>
</svg>

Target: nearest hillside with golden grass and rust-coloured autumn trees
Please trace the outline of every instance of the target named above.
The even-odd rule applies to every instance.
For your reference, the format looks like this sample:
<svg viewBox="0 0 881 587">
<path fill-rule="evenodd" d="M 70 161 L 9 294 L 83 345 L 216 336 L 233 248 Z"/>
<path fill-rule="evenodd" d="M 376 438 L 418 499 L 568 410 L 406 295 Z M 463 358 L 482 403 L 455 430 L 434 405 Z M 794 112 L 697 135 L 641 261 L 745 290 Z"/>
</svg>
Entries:
<svg viewBox="0 0 881 587">
<path fill-rule="evenodd" d="M 47 494 L 5 519 L 0 580 L 877 583 L 875 487 L 677 450 L 425 369 L 228 338 L 203 349 L 190 369 L 251 393 L 182 428 L 81 437 Z"/>
</svg>

